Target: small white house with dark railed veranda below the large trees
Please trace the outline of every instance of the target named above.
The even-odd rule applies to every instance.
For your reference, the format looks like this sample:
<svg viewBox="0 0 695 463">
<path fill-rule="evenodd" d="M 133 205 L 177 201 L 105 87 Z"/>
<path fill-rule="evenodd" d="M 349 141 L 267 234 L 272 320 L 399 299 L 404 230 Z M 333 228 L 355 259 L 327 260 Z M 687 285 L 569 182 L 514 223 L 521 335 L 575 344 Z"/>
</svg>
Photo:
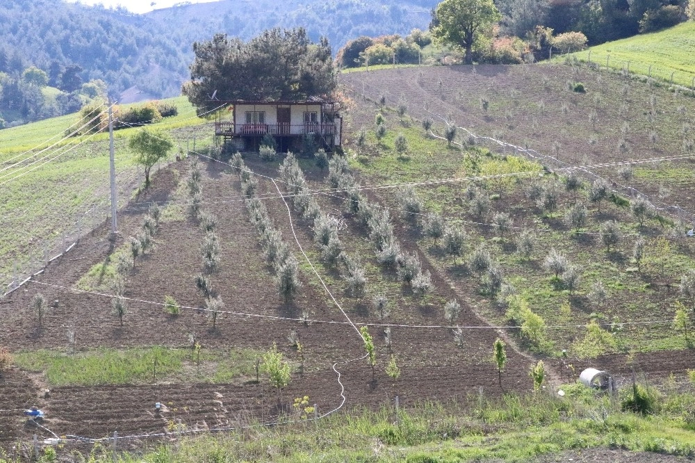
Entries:
<svg viewBox="0 0 695 463">
<path fill-rule="evenodd" d="M 264 136 L 275 138 L 279 151 L 298 151 L 313 138 L 318 147 L 341 146 L 341 103 L 310 97 L 304 101 L 220 101 L 227 106 L 215 119 L 215 142 L 233 149 L 259 149 Z"/>
</svg>

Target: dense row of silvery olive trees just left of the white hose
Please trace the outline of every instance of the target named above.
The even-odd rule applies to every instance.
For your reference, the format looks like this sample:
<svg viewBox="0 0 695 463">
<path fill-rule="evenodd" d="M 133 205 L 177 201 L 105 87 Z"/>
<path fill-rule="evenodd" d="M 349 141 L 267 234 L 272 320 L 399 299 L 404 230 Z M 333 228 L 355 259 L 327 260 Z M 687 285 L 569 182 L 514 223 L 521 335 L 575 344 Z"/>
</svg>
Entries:
<svg viewBox="0 0 695 463">
<path fill-rule="evenodd" d="M 247 197 L 246 209 L 256 232 L 261 235 L 265 259 L 275 273 L 277 291 L 284 302 L 289 303 L 302 286 L 299 279 L 299 263 L 287 243 L 283 241 L 282 232 L 272 223 L 265 204 L 256 197 L 258 182 L 246 167 L 240 153 L 232 156 L 231 164 L 239 170 L 241 188 Z"/>
</svg>

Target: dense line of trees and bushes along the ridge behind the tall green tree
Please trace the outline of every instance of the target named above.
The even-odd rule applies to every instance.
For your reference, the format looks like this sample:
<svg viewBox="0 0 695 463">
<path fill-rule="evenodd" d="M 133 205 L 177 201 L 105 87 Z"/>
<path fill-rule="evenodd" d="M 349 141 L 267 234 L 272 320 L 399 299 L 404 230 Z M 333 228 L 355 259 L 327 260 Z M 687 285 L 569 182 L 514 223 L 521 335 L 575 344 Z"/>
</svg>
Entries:
<svg viewBox="0 0 695 463">
<path fill-rule="evenodd" d="M 457 40 L 445 39 L 452 33 L 460 33 L 455 30 L 460 24 L 440 29 L 440 19 L 445 18 L 437 17 L 436 11 L 440 8 L 437 6 L 432 10 L 429 30 L 414 29 L 404 36 L 363 35 L 348 41 L 338 51 L 338 64 L 357 67 L 393 61 L 401 64 L 472 60 L 496 64 L 529 62 L 548 58 L 552 53 L 578 51 L 587 44 L 658 31 L 688 18 L 695 19 L 695 0 L 690 3 L 687 0 L 494 0 L 477 3 L 461 0 L 448 3 L 478 7 L 489 3 L 491 8 L 493 5 L 496 8 L 491 12 L 493 19 L 472 34 L 470 48 Z M 475 10 L 473 6 L 463 8 Z M 455 45 L 454 49 L 432 44 L 432 32 L 441 36 L 439 42 Z M 462 51 L 466 51 L 465 58 Z"/>
</svg>

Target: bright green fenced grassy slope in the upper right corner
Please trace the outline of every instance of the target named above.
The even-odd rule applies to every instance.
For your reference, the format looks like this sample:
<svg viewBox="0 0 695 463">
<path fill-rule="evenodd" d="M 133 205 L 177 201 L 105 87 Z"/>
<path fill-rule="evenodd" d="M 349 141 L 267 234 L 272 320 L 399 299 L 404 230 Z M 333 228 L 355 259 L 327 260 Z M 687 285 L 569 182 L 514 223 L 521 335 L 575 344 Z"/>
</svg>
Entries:
<svg viewBox="0 0 695 463">
<path fill-rule="evenodd" d="M 576 53 L 580 60 L 621 70 L 630 63 L 630 72 L 651 76 L 691 87 L 695 77 L 695 22 L 685 22 L 665 31 L 635 35 L 634 37 L 591 47 Z"/>
</svg>

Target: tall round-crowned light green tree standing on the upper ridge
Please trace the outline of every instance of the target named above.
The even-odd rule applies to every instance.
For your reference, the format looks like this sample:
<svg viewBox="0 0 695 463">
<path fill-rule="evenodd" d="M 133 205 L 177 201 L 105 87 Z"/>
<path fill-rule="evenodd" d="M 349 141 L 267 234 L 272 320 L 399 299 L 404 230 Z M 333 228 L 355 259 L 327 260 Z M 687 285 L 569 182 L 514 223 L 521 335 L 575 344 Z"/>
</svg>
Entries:
<svg viewBox="0 0 695 463">
<path fill-rule="evenodd" d="M 492 0 L 444 0 L 432 10 L 430 31 L 436 42 L 461 47 L 464 61 L 473 63 L 473 42 L 502 19 Z"/>
</svg>

